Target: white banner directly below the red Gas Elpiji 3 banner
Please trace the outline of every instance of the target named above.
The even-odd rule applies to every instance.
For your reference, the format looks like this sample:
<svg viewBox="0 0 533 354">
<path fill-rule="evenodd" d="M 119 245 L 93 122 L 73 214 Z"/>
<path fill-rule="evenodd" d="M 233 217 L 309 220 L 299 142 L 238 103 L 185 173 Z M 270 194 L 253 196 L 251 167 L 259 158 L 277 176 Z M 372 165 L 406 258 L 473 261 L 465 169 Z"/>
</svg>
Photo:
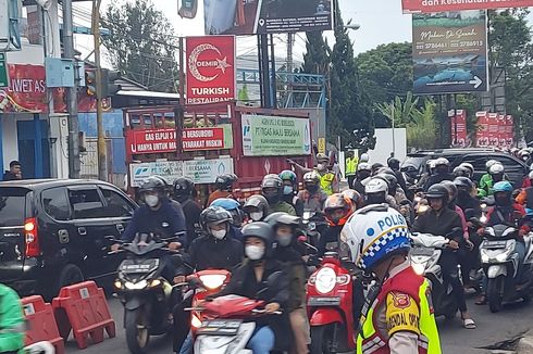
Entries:
<svg viewBox="0 0 533 354">
<path fill-rule="evenodd" d="M 197 185 L 214 184 L 216 176 L 233 174 L 233 159 L 158 161 L 129 164 L 132 187 L 140 187 L 153 175 L 163 177 L 170 185 L 178 177 L 189 177 Z"/>
</svg>

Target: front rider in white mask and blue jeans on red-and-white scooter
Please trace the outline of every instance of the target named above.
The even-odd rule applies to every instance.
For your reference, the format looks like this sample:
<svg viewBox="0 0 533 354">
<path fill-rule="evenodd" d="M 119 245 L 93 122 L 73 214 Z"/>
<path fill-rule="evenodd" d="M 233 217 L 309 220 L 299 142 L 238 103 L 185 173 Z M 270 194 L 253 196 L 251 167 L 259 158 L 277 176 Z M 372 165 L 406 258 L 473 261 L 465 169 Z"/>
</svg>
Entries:
<svg viewBox="0 0 533 354">
<path fill-rule="evenodd" d="M 266 302 L 266 314 L 286 309 L 290 290 L 287 267 L 273 257 L 274 229 L 266 223 L 258 222 L 243 228 L 245 256 L 241 265 L 233 271 L 230 283 L 215 296 L 240 295 L 261 299 Z M 275 289 L 264 291 L 269 276 L 276 276 Z M 290 324 L 288 314 L 257 317 L 256 331 L 248 342 L 253 354 L 269 354 L 284 351 L 290 345 Z"/>
</svg>

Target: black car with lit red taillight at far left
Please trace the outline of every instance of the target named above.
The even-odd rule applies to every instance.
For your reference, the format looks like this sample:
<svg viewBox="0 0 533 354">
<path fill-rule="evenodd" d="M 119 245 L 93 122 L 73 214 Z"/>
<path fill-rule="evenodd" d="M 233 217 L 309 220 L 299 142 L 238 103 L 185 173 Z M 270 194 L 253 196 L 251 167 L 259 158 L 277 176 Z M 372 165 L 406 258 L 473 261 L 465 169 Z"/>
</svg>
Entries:
<svg viewBox="0 0 533 354">
<path fill-rule="evenodd" d="M 21 295 L 55 296 L 63 286 L 112 279 L 122 255 L 109 255 L 137 205 L 99 180 L 0 182 L 0 282 Z"/>
</svg>

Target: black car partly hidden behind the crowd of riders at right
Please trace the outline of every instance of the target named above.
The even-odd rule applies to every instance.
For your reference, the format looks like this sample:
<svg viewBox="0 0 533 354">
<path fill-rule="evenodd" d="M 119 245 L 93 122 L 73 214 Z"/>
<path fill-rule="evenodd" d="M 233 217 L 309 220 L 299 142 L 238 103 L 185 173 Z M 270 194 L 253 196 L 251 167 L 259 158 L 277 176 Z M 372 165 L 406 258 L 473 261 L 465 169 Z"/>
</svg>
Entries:
<svg viewBox="0 0 533 354">
<path fill-rule="evenodd" d="M 488 160 L 499 161 L 504 165 L 505 173 L 509 176 L 515 188 L 519 188 L 522 185 L 522 178 L 529 173 L 529 167 L 512 155 L 500 151 L 476 148 L 417 151 L 407 154 L 407 159 L 404 161 L 401 168 L 406 169 L 407 166 L 414 166 L 419 176 L 421 176 L 424 173 L 427 160 L 438 157 L 446 157 L 450 163 L 451 169 L 463 162 L 471 163 L 474 166 L 473 179 L 476 182 L 481 179 L 481 176 L 486 174 L 485 163 Z"/>
</svg>

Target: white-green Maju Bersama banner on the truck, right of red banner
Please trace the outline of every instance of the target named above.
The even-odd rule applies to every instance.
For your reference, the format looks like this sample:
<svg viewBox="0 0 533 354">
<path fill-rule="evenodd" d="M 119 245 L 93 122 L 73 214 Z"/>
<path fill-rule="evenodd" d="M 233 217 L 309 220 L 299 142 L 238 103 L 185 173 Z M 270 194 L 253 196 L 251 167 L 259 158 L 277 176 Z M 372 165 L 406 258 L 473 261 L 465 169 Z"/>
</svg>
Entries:
<svg viewBox="0 0 533 354">
<path fill-rule="evenodd" d="M 241 115 L 245 156 L 290 156 L 311 154 L 309 119 Z"/>
</svg>

